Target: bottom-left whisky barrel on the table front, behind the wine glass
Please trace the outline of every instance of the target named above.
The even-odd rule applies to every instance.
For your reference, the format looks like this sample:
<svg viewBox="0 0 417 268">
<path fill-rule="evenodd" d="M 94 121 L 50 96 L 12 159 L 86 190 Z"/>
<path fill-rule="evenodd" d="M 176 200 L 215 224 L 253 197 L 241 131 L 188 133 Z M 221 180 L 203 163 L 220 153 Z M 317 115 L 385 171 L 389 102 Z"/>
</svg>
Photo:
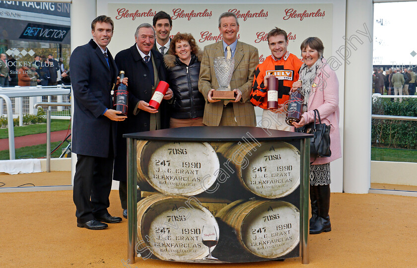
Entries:
<svg viewBox="0 0 417 268">
<path fill-rule="evenodd" d="M 138 202 L 137 252 L 146 248 L 161 260 L 201 260 L 209 254 L 203 225 L 213 225 L 219 237 L 213 214 L 195 197 L 151 195 Z"/>
</svg>

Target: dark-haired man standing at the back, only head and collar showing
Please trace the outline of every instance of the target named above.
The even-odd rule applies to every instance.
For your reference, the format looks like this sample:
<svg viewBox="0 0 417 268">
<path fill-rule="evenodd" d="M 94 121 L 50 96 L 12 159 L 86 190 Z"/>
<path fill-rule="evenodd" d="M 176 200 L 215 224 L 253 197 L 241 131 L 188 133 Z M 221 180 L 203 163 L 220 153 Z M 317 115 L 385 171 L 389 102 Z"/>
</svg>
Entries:
<svg viewBox="0 0 417 268">
<path fill-rule="evenodd" d="M 169 37 L 172 30 L 171 16 L 164 11 L 159 11 L 153 16 L 152 23 L 156 34 L 153 49 L 165 55 L 168 53 L 169 44 L 171 43 L 171 38 Z"/>
</svg>

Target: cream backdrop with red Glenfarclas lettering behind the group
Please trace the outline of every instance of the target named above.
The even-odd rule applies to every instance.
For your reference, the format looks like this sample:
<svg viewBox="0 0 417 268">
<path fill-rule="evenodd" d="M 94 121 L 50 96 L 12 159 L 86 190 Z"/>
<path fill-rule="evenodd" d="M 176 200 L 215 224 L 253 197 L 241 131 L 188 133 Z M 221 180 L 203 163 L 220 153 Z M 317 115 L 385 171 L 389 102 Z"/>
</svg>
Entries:
<svg viewBox="0 0 417 268">
<path fill-rule="evenodd" d="M 322 39 L 326 48 L 332 47 L 332 4 L 239 4 L 236 8 L 235 4 L 114 3 L 108 4 L 108 15 L 115 23 L 110 51 L 132 46 L 138 25 L 152 24 L 159 10 L 171 15 L 171 37 L 178 32 L 191 33 L 201 49 L 222 40 L 218 30 L 219 15 L 225 11 L 235 13 L 240 25 L 239 41 L 257 47 L 260 62 L 271 54 L 266 37 L 276 26 L 287 32 L 288 50 L 299 58 L 300 44 L 309 36 Z"/>
</svg>

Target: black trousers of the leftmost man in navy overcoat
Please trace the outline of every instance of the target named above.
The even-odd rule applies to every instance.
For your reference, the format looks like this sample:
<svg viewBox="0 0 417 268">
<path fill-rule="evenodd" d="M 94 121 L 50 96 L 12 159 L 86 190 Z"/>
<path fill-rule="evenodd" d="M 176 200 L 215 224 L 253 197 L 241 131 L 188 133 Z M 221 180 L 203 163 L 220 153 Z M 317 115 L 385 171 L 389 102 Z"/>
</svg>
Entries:
<svg viewBox="0 0 417 268">
<path fill-rule="evenodd" d="M 78 223 L 84 223 L 107 213 L 112 188 L 114 157 L 77 154 L 73 201 Z"/>
</svg>

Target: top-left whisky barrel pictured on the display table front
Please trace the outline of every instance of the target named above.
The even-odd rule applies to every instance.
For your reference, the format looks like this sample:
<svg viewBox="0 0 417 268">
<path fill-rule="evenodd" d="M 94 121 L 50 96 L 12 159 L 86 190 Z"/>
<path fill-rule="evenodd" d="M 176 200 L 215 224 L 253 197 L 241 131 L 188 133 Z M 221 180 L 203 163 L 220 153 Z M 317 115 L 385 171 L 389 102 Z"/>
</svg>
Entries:
<svg viewBox="0 0 417 268">
<path fill-rule="evenodd" d="M 182 196 L 209 189 L 220 167 L 209 143 L 191 141 L 140 141 L 137 165 L 140 190 Z"/>
</svg>

